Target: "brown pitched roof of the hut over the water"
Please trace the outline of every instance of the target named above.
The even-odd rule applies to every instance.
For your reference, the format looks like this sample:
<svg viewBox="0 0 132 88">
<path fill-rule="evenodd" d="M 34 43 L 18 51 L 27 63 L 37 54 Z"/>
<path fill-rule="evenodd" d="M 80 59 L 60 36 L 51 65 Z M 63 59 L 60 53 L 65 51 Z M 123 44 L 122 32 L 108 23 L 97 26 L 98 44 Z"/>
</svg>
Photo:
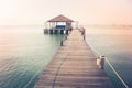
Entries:
<svg viewBox="0 0 132 88">
<path fill-rule="evenodd" d="M 55 18 L 48 20 L 47 22 L 74 22 L 74 21 L 72 19 L 68 19 L 61 14 L 58 16 L 55 16 Z"/>
</svg>

